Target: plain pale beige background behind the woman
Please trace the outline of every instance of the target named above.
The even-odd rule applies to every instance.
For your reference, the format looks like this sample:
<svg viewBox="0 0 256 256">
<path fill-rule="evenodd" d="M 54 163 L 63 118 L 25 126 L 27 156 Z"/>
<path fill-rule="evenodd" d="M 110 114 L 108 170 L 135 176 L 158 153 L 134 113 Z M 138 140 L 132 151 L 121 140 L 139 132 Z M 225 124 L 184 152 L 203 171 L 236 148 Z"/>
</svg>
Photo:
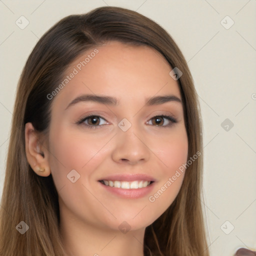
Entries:
<svg viewBox="0 0 256 256">
<path fill-rule="evenodd" d="M 137 10 L 177 42 L 200 97 L 211 255 L 233 255 L 238 247 L 256 250 L 256 0 L 1 0 L 0 195 L 16 84 L 26 58 L 60 18 L 105 5 Z M 24 29 L 15 24 L 21 15 L 29 21 Z"/>
</svg>

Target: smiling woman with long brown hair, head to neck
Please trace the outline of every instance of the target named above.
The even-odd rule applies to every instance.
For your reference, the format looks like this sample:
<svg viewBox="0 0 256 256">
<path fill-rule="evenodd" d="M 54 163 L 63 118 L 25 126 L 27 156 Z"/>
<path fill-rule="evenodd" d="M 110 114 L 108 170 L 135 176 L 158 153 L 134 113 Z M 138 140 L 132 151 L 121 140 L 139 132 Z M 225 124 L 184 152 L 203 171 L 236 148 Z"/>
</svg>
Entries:
<svg viewBox="0 0 256 256">
<path fill-rule="evenodd" d="M 70 15 L 37 42 L 16 95 L 1 255 L 204 255 L 199 105 L 152 20 Z"/>
</svg>

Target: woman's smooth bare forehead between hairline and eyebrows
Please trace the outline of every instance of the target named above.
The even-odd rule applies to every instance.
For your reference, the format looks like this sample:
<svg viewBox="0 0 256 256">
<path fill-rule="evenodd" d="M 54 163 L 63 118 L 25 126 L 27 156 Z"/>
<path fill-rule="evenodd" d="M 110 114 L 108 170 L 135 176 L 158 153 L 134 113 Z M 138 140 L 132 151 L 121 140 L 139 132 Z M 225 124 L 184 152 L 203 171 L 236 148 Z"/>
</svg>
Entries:
<svg viewBox="0 0 256 256">
<path fill-rule="evenodd" d="M 69 102 L 79 94 L 96 93 L 127 103 L 157 94 L 180 97 L 178 84 L 169 75 L 171 69 L 151 47 L 110 41 L 87 50 L 69 65 L 63 78 L 68 81 L 57 98 Z"/>
</svg>

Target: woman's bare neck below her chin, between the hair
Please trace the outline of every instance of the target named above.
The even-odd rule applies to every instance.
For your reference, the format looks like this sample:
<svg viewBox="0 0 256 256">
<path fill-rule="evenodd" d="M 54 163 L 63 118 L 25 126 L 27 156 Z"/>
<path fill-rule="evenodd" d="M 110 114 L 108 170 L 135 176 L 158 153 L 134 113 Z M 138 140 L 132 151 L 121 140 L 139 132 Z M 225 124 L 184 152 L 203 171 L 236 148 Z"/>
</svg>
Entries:
<svg viewBox="0 0 256 256">
<path fill-rule="evenodd" d="M 60 214 L 65 256 L 143 256 L 143 229 L 122 233 Z"/>
</svg>

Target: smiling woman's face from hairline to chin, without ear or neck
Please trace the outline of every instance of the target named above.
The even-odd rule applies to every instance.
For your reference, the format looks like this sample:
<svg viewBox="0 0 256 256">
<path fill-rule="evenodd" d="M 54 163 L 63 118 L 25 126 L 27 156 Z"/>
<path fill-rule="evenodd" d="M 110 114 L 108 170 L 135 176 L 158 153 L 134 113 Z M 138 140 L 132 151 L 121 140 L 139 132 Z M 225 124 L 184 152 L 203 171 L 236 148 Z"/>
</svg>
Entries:
<svg viewBox="0 0 256 256">
<path fill-rule="evenodd" d="M 182 172 L 172 178 L 188 149 L 178 84 L 149 47 L 112 41 L 95 48 L 72 62 L 49 99 L 48 163 L 60 217 L 103 229 L 144 228 L 183 180 Z"/>
</svg>

